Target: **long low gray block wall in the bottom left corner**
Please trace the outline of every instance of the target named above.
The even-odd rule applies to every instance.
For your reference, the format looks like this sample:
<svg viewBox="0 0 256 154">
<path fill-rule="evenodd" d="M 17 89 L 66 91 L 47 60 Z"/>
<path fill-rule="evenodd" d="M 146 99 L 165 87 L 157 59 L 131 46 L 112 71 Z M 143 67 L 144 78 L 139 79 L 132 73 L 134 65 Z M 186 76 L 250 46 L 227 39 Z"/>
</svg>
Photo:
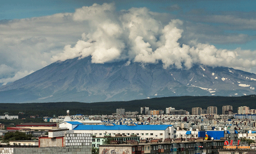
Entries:
<svg viewBox="0 0 256 154">
<path fill-rule="evenodd" d="M 82 145 L 82 146 L 44 147 L 44 148 L 5 148 L 5 149 L 0 148 L 0 154 L 5 154 L 5 153 L 6 154 L 92 154 L 92 146 Z"/>
</svg>

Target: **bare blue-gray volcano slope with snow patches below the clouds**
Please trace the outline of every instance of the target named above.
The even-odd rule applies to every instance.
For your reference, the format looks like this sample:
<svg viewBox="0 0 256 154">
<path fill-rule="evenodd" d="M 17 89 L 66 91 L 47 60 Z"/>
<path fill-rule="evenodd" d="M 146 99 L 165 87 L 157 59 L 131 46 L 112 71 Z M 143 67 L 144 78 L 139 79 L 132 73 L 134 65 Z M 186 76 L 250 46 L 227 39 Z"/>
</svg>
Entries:
<svg viewBox="0 0 256 154">
<path fill-rule="evenodd" d="M 118 101 L 168 96 L 255 94 L 256 74 L 225 67 L 163 69 L 126 61 L 92 64 L 91 58 L 55 62 L 0 87 L 0 102 Z"/>
</svg>

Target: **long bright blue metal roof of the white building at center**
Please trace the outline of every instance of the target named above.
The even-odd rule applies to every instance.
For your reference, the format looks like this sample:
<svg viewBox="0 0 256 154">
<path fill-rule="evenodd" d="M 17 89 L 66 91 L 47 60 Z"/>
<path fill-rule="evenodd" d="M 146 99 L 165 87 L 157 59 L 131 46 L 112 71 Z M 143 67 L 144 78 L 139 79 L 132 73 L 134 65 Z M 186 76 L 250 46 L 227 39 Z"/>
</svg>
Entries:
<svg viewBox="0 0 256 154">
<path fill-rule="evenodd" d="M 104 126 L 104 125 L 79 125 L 74 130 L 165 130 L 172 125 L 116 125 L 116 126 Z"/>
</svg>

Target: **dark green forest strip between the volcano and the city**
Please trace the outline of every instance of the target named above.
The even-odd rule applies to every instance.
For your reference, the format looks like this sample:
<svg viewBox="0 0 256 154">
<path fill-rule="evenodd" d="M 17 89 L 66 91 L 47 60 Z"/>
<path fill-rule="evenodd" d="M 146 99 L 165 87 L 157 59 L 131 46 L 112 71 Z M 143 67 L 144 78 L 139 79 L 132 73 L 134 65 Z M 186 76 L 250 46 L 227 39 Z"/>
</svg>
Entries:
<svg viewBox="0 0 256 154">
<path fill-rule="evenodd" d="M 218 113 L 222 113 L 222 106 L 232 105 L 234 112 L 237 112 L 239 106 L 249 106 L 250 109 L 256 109 L 255 95 L 242 97 L 219 97 L 219 96 L 182 96 L 182 97 L 165 97 L 151 98 L 131 101 L 115 101 L 115 102 L 49 102 L 49 103 L 0 103 L 0 115 L 8 112 L 9 115 L 19 115 L 21 118 L 29 118 L 31 115 L 37 117 L 53 115 L 65 115 L 66 110 L 70 110 L 70 114 L 112 114 L 117 108 L 123 108 L 125 111 L 138 111 L 141 107 L 149 107 L 149 110 L 163 110 L 165 108 L 174 107 L 176 110 L 183 109 L 189 112 L 193 107 L 201 107 L 207 109 L 208 106 L 217 106 Z M 24 112 L 25 114 L 18 114 Z"/>
</svg>

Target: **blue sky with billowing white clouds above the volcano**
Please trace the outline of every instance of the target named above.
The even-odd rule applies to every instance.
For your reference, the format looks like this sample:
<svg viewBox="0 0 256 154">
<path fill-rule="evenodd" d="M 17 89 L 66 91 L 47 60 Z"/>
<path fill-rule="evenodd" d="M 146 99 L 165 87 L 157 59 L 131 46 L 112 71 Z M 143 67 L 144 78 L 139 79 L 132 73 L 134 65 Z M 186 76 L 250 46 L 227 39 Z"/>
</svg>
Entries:
<svg viewBox="0 0 256 154">
<path fill-rule="evenodd" d="M 93 6 L 94 3 L 98 5 Z M 162 60 L 166 64 L 164 67 L 174 65 L 177 68 L 189 68 L 193 64 L 202 64 L 256 73 L 256 1 L 2 0 L 0 4 L 0 84 L 13 82 L 54 60 L 76 56 L 93 56 L 92 61 L 96 63 L 111 62 L 113 59 L 142 63 Z M 96 12 L 88 17 L 86 13 L 90 9 Z M 137 14 L 137 18 L 132 16 L 134 14 Z M 125 18 L 130 18 L 133 23 L 138 22 L 141 27 L 137 30 L 140 31 L 125 27 L 129 22 Z M 119 31 L 104 31 L 108 26 L 116 26 Z M 103 30 L 99 31 L 99 28 Z M 186 56 L 175 59 L 176 48 L 168 48 L 160 42 L 161 36 L 167 34 L 163 32 L 166 28 L 173 28 L 169 30 L 174 32 L 174 40 L 169 41 L 176 41 L 176 47 L 180 47 L 178 52 L 182 51 Z M 109 32 L 112 37 L 96 37 L 102 31 Z M 129 40 L 131 34 L 136 35 L 133 40 L 137 39 L 137 42 Z M 100 45 L 113 39 L 113 46 L 93 46 L 94 50 L 100 48 L 102 51 L 102 48 L 109 55 L 91 49 L 89 51 L 92 45 L 90 41 L 97 39 L 102 41 Z M 138 48 L 133 43 L 141 43 L 145 48 Z M 182 47 L 182 44 L 185 45 Z M 74 54 L 81 47 L 88 51 L 82 55 Z M 171 54 L 174 55 L 163 58 L 165 49 L 173 50 Z M 157 52 L 163 55 L 156 56 Z M 191 56 L 193 54 L 198 55 Z M 189 60 L 184 60 L 187 57 Z M 231 60 L 224 61 L 225 58 Z"/>
</svg>

